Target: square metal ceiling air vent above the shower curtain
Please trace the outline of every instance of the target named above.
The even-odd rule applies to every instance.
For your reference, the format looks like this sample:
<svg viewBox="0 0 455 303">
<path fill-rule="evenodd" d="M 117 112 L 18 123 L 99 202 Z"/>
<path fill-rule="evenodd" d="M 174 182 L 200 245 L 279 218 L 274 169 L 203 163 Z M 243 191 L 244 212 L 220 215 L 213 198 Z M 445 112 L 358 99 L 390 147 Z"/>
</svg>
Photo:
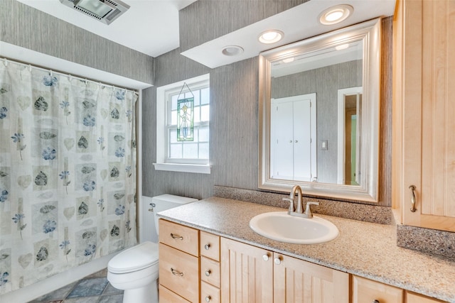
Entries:
<svg viewBox="0 0 455 303">
<path fill-rule="evenodd" d="M 60 0 L 60 2 L 105 24 L 112 23 L 129 9 L 128 4 L 119 0 Z"/>
</svg>

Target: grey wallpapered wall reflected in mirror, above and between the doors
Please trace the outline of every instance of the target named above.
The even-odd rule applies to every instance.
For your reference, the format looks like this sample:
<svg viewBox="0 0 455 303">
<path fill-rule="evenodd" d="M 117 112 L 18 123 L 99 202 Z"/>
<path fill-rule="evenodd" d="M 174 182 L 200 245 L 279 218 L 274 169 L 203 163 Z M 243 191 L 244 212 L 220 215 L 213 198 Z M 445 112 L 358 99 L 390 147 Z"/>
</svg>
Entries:
<svg viewBox="0 0 455 303">
<path fill-rule="evenodd" d="M 273 78 L 272 98 L 316 93 L 316 137 L 318 181 L 337 182 L 338 166 L 338 89 L 362 86 L 362 60 L 344 62 Z M 321 141 L 328 150 L 321 150 Z"/>
</svg>

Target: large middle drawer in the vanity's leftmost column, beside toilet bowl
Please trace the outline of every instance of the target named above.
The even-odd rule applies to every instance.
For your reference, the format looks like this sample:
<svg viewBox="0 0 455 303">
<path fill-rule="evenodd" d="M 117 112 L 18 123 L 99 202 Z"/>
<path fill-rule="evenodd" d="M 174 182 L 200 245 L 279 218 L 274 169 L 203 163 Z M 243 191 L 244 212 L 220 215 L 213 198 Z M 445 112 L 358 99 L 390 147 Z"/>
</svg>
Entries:
<svg viewBox="0 0 455 303">
<path fill-rule="evenodd" d="M 159 283 L 191 302 L 199 301 L 199 259 L 159 243 Z"/>
</svg>

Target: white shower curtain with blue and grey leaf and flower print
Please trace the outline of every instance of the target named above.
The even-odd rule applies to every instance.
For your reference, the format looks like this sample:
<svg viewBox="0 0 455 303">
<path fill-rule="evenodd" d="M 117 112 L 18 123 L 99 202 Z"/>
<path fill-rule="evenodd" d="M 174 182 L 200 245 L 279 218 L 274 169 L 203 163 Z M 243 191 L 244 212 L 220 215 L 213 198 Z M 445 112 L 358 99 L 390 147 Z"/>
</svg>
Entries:
<svg viewBox="0 0 455 303">
<path fill-rule="evenodd" d="M 136 243 L 136 100 L 0 61 L 0 294 Z"/>
</svg>

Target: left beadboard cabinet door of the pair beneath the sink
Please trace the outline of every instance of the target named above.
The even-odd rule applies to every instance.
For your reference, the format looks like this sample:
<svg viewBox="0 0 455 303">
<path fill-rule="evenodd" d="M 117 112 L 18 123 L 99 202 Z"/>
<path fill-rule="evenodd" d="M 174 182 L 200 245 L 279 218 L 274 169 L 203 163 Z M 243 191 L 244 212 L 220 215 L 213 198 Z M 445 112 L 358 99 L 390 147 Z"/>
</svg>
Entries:
<svg viewBox="0 0 455 303">
<path fill-rule="evenodd" d="M 221 238 L 221 302 L 273 301 L 272 253 Z"/>
</svg>

